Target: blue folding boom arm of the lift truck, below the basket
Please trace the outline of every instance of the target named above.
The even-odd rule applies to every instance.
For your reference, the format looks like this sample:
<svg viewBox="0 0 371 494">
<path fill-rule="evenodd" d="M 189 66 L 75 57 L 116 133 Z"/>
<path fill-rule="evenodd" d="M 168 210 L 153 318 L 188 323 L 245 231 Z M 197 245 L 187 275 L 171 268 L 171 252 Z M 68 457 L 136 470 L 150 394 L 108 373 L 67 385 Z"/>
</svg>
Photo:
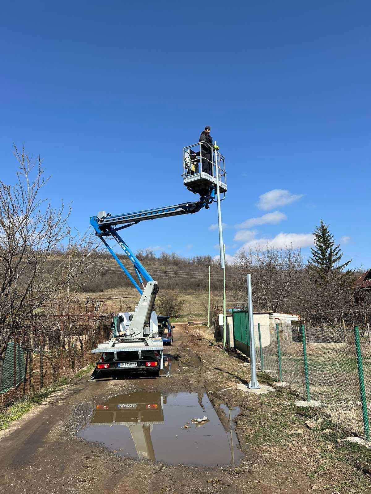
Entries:
<svg viewBox="0 0 371 494">
<path fill-rule="evenodd" d="M 135 256 L 134 252 L 130 249 L 130 247 L 128 247 L 128 245 L 124 242 L 124 240 L 120 237 L 120 235 L 117 232 L 124 228 L 128 228 L 129 226 L 136 225 L 140 221 L 144 221 L 144 220 L 195 213 L 200 209 L 202 209 L 203 207 L 208 208 L 209 204 L 211 204 L 213 201 L 214 195 L 215 195 L 215 191 L 212 190 L 208 197 L 202 198 L 199 201 L 193 203 L 183 203 L 183 204 L 177 204 L 175 206 L 166 206 L 156 209 L 146 209 L 142 211 L 135 211 L 132 213 L 111 215 L 103 211 L 102 213 L 98 213 L 97 216 L 92 216 L 90 218 L 90 223 L 95 229 L 95 235 L 97 235 L 100 238 L 104 246 L 107 248 L 107 250 L 110 252 L 112 257 L 116 260 L 117 264 L 124 271 L 126 276 L 132 282 L 134 287 L 137 288 L 137 290 L 141 295 L 143 293 L 142 288 L 144 288 L 143 279 L 148 282 L 148 281 L 153 281 L 153 278 L 147 272 L 144 266 L 140 263 L 139 259 Z M 108 245 L 108 243 L 105 240 L 106 237 L 113 237 L 118 243 L 118 245 L 123 249 L 125 254 L 132 261 L 135 272 L 139 280 L 139 284 L 129 273 L 129 271 L 124 266 L 124 264 L 120 261 L 117 254 Z M 139 285 L 141 285 L 141 287 Z"/>
</svg>

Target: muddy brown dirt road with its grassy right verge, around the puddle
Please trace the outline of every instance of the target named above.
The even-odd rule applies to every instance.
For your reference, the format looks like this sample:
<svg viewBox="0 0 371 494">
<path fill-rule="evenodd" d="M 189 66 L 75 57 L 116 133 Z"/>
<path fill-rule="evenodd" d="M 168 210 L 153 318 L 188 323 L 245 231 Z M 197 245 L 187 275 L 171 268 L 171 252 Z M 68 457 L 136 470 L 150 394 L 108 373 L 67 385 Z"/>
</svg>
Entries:
<svg viewBox="0 0 371 494">
<path fill-rule="evenodd" d="M 173 356 L 170 375 L 161 373 L 159 378 L 93 382 L 87 375 L 65 386 L 44 405 L 0 433 L 0 492 L 371 492 L 370 452 L 344 443 L 347 431 L 337 429 L 320 412 L 295 409 L 293 402 L 297 397 L 286 388 L 265 395 L 252 395 L 239 389 L 238 384 L 248 383 L 249 368 L 243 358 L 223 352 L 207 328 L 178 325 L 174 344 L 166 348 L 166 353 Z M 259 381 L 272 384 L 269 376 L 260 375 Z M 170 399 L 176 400 L 174 393 L 180 392 L 197 393 L 200 406 L 210 402 L 217 414 L 210 408 L 202 409 L 206 413 L 208 410 L 213 412 L 212 420 L 197 427 L 191 422 L 191 418 L 196 417 L 189 412 L 188 427 L 192 429 L 189 433 L 196 438 L 192 440 L 194 448 L 202 451 L 206 440 L 203 437 L 220 434 L 212 429 L 217 425 L 215 417 L 218 416 L 223 437 L 231 433 L 231 442 L 232 434 L 238 438 L 237 446 L 234 444 L 235 463 L 227 454 L 228 461 L 226 459 L 224 464 L 195 466 L 193 463 L 200 461 L 200 455 L 192 453 L 189 443 L 185 452 L 182 451 L 187 464 L 171 464 L 176 462 L 182 449 L 179 438 L 185 437 L 187 431 L 178 424 L 179 434 L 174 434 L 174 423 L 167 426 L 166 411 L 170 409 L 166 407 L 169 405 L 164 406 L 162 425 L 154 425 L 153 430 L 143 426 L 148 434 L 143 435 L 145 447 L 138 447 L 140 451 L 135 452 L 136 457 L 126 456 L 125 448 L 120 451 L 107 444 L 87 441 L 89 434 L 82 433 L 89 430 L 84 426 L 91 427 L 94 416 L 103 416 L 96 412 L 99 404 L 101 413 L 102 407 L 110 406 L 115 400 L 122 403 L 125 396 L 138 396 L 138 393 L 168 397 L 168 404 L 171 404 Z M 128 398 L 125 403 L 130 401 Z M 156 398 L 152 401 L 156 402 Z M 157 408 L 155 412 L 159 410 Z M 233 423 L 229 420 L 229 410 L 239 411 Z M 120 413 L 112 415 L 112 422 L 123 420 Z M 133 412 L 133 421 L 137 420 L 136 413 Z M 312 428 L 305 423 L 309 419 L 312 419 Z M 105 419 L 99 420 L 104 422 Z M 185 425 L 187 422 L 183 427 Z M 110 428 L 108 424 L 108 427 L 110 441 L 114 444 L 120 425 Z M 164 437 L 162 450 L 168 458 L 165 461 L 153 460 L 161 449 L 158 442 L 161 438 L 155 437 L 159 430 Z M 210 434 L 206 434 L 207 431 Z M 148 447 L 147 441 L 149 438 L 150 442 L 151 434 L 153 445 L 150 446 L 153 448 Z M 137 453 L 152 459 L 138 459 Z M 210 450 L 211 453 L 214 451 Z"/>
</svg>

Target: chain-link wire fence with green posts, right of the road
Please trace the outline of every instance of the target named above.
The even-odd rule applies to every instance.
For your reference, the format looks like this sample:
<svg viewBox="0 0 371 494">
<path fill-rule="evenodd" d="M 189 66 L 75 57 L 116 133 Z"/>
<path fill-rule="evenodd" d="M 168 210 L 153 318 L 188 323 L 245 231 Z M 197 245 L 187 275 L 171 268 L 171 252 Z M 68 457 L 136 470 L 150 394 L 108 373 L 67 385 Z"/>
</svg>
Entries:
<svg viewBox="0 0 371 494">
<path fill-rule="evenodd" d="M 304 327 L 301 324 L 270 320 L 269 326 L 259 325 L 258 328 L 256 325 L 258 367 L 279 381 L 290 384 L 302 397 L 319 401 L 334 422 L 345 426 L 350 432 L 366 434 L 367 437 L 368 414 L 371 411 L 369 329 L 358 329 L 357 342 L 354 328 Z M 262 346 L 259 345 L 259 330 Z M 360 355 L 364 381 L 363 403 Z"/>
</svg>

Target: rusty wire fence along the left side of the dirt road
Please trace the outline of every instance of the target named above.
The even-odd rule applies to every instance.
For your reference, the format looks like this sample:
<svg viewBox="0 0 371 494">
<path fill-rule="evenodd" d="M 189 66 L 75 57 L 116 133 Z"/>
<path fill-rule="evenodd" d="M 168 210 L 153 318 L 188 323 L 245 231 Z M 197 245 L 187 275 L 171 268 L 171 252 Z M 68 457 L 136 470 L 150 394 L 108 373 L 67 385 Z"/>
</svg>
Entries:
<svg viewBox="0 0 371 494">
<path fill-rule="evenodd" d="M 91 350 L 108 339 L 110 316 L 34 315 L 8 342 L 0 409 L 31 397 L 94 362 Z"/>
</svg>

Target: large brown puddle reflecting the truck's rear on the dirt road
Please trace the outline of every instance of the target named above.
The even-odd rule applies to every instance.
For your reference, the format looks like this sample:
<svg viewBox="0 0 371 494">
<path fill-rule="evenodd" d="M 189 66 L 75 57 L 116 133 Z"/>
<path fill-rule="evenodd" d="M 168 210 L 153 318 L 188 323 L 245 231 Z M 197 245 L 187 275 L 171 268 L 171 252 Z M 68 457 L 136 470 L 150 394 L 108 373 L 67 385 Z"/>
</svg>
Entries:
<svg viewBox="0 0 371 494">
<path fill-rule="evenodd" d="M 228 417 L 228 408 L 224 411 Z M 205 415 L 207 422 L 192 423 Z M 243 456 L 233 427 L 223 427 L 205 394 L 117 395 L 96 403 L 77 435 L 123 456 L 173 465 L 226 465 L 238 463 Z"/>
</svg>

